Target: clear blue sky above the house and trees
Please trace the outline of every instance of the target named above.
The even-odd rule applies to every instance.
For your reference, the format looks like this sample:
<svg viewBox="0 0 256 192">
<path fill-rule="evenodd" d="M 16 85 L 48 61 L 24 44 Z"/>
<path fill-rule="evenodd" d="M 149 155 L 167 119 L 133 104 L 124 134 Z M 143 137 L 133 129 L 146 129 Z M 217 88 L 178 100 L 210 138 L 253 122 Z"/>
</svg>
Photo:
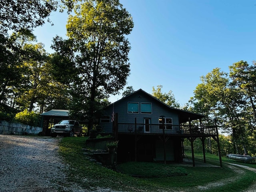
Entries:
<svg viewBox="0 0 256 192">
<path fill-rule="evenodd" d="M 240 60 L 252 64 L 256 46 L 256 0 L 120 0 L 132 15 L 128 40 L 130 76 L 126 86 L 152 93 L 162 85 L 182 106 L 214 68 L 229 72 Z M 54 26 L 34 33 L 52 53 L 57 34 L 65 38 L 67 14 L 52 13 Z M 126 88 L 125 86 L 125 88 Z M 120 91 L 122 93 L 122 90 Z M 122 94 L 111 96 L 115 102 Z"/>
</svg>

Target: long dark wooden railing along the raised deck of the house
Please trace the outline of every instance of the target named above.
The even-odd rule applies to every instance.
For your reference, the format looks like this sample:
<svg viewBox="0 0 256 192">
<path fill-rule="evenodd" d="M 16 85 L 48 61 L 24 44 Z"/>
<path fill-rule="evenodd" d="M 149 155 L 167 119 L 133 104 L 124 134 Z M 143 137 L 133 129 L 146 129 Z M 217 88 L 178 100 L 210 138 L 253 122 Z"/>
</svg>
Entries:
<svg viewBox="0 0 256 192">
<path fill-rule="evenodd" d="M 164 131 L 163 131 L 164 126 Z M 170 124 L 128 124 L 118 123 L 118 134 L 167 135 L 167 136 L 216 136 L 216 126 L 188 126 Z"/>
</svg>

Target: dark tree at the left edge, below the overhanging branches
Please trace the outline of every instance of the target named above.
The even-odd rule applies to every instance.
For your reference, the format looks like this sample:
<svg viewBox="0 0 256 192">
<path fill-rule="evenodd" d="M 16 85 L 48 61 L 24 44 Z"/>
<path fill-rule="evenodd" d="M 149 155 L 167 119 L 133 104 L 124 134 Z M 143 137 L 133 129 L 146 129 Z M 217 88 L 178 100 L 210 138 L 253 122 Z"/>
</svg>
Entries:
<svg viewBox="0 0 256 192">
<path fill-rule="evenodd" d="M 0 106 L 14 107 L 13 102 L 22 84 L 22 60 L 26 52 L 22 50 L 22 46 L 33 40 L 35 37 L 29 31 L 26 33 L 13 33 L 6 44 L 0 45 Z"/>
</svg>

